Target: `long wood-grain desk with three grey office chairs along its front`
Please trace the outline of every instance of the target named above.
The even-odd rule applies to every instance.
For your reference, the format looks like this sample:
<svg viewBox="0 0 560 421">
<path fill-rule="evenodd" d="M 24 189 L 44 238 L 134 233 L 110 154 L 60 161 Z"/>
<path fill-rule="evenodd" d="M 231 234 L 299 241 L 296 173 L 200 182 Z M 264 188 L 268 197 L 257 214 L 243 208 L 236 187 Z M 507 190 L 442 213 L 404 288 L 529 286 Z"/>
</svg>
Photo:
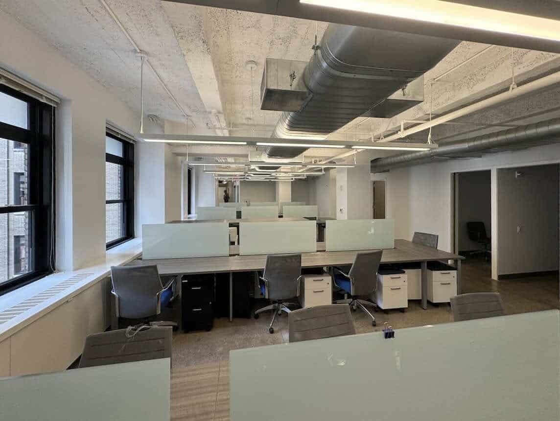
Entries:
<svg viewBox="0 0 560 421">
<path fill-rule="evenodd" d="M 232 250 L 230 246 L 230 252 Z M 235 246 L 233 246 L 235 247 Z M 317 244 L 318 250 L 324 250 L 324 243 Z M 235 249 L 233 249 L 235 250 Z M 368 251 L 368 250 L 361 250 Z M 302 268 L 322 268 L 324 266 L 351 265 L 358 251 L 318 251 L 302 253 Z M 462 256 L 431 247 L 415 244 L 407 240 L 395 240 L 395 248 L 383 250 L 381 263 L 420 263 L 422 268 L 422 308 L 426 310 L 428 294 L 428 261 L 455 261 L 457 270 L 457 293 L 461 293 L 461 259 Z M 137 259 L 129 265 L 157 265 L 161 275 L 193 275 L 202 273 L 230 273 L 230 320 L 233 320 L 233 275 L 234 272 L 263 270 L 266 255 L 254 256 L 220 256 L 189 259 Z"/>
</svg>

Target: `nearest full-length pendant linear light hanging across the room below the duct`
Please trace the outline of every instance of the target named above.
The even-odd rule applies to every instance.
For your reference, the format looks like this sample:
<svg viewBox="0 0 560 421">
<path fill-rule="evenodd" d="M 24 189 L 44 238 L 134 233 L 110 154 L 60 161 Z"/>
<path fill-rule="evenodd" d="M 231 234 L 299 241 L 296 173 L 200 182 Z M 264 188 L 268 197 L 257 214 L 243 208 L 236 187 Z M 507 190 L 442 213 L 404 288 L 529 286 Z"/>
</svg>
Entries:
<svg viewBox="0 0 560 421">
<path fill-rule="evenodd" d="M 216 136 L 216 135 L 187 135 L 187 134 L 137 134 L 144 142 L 161 143 L 188 143 L 210 145 L 239 145 L 239 146 L 276 146 L 276 147 L 302 147 L 302 148 L 335 148 L 335 149 L 380 149 L 387 151 L 427 151 L 437 148 L 437 144 L 427 143 L 396 143 L 396 142 L 371 142 L 371 141 L 311 141 L 309 139 L 279 139 L 243 136 Z M 296 164 L 294 162 L 294 164 Z M 275 166 L 273 162 L 251 165 Z M 326 167 L 326 165 L 319 165 Z"/>
</svg>

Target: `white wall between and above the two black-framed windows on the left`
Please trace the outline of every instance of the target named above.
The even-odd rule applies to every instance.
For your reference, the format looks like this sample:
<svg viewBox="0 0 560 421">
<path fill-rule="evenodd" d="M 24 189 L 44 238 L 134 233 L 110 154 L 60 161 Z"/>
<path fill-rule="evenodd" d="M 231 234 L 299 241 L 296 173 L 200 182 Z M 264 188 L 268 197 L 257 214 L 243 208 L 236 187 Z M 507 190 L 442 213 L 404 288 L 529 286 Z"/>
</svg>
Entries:
<svg viewBox="0 0 560 421">
<path fill-rule="evenodd" d="M 57 266 L 105 261 L 105 125 L 110 120 L 134 133 L 138 116 L 1 11 L 0 39 L 1 67 L 63 99 L 56 133 Z"/>
</svg>

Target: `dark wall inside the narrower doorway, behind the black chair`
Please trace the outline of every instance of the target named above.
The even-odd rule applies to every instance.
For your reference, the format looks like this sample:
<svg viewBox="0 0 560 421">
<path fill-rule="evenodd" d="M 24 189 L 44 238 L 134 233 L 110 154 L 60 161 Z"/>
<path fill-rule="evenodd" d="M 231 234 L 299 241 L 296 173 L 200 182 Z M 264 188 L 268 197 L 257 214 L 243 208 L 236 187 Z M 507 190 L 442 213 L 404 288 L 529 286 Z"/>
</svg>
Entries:
<svg viewBox="0 0 560 421">
<path fill-rule="evenodd" d="M 480 244 L 469 239 L 466 223 L 482 221 L 486 235 L 491 234 L 490 171 L 461 172 L 458 175 L 458 244 L 459 251 L 479 250 Z"/>
</svg>

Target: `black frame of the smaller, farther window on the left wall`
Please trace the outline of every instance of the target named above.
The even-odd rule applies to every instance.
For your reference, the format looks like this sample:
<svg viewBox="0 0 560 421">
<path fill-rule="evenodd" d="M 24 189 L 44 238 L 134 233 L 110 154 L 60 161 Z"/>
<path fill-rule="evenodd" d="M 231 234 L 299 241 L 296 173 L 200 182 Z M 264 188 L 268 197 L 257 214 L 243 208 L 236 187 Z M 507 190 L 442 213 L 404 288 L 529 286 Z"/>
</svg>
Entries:
<svg viewBox="0 0 560 421">
<path fill-rule="evenodd" d="M 120 139 L 110 132 L 106 132 L 105 135 L 123 144 L 122 157 L 105 152 L 105 162 L 115 163 L 118 165 L 122 165 L 123 167 L 123 177 L 121 185 L 122 199 L 105 199 L 105 205 L 111 203 L 123 204 L 124 236 L 106 243 L 106 249 L 109 250 L 115 246 L 118 246 L 119 244 L 123 244 L 123 242 L 132 240 L 132 238 L 134 238 L 134 144 L 132 142 Z M 107 218 L 105 216 L 105 223 L 106 221 Z"/>
</svg>

